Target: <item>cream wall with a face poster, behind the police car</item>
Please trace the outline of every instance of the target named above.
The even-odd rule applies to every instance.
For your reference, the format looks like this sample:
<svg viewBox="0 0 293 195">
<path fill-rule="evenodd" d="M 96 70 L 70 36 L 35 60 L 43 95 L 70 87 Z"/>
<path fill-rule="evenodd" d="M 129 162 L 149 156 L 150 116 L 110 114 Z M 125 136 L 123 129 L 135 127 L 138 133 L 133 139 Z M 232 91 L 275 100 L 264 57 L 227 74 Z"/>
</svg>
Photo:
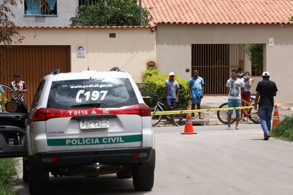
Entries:
<svg viewBox="0 0 293 195">
<path fill-rule="evenodd" d="M 109 38 L 116 33 L 116 38 Z M 119 67 L 141 82 L 147 62 L 156 62 L 155 33 L 142 29 L 21 29 L 21 45 L 70 45 L 71 71 L 108 71 Z M 76 57 L 76 46 L 85 45 L 86 56 Z"/>
</svg>

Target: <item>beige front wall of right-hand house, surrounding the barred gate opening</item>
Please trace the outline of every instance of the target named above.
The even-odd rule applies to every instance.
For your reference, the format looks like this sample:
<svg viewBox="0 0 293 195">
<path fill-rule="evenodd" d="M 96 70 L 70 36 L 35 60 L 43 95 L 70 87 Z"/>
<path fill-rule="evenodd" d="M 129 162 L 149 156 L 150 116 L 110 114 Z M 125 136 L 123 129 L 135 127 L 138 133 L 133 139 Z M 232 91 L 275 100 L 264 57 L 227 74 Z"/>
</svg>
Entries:
<svg viewBox="0 0 293 195">
<path fill-rule="evenodd" d="M 285 73 L 293 72 L 292 32 L 291 24 L 159 24 L 157 66 L 163 73 L 177 71 L 179 76 L 189 79 L 190 73 L 185 69 L 191 68 L 191 44 L 262 43 L 265 70 L 279 90 L 275 102 L 292 103 L 293 90 L 288 79 L 284 79 Z M 269 47 L 269 38 L 274 38 L 273 47 Z M 254 80 L 253 90 L 261 78 Z"/>
</svg>

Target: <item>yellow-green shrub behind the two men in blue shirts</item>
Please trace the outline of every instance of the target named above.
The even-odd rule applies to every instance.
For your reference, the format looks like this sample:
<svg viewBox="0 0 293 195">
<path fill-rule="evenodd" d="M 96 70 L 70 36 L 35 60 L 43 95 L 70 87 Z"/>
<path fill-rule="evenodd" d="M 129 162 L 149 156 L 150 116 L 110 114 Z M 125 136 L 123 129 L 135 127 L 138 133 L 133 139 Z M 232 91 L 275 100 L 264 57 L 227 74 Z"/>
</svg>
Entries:
<svg viewBox="0 0 293 195">
<path fill-rule="evenodd" d="M 165 80 L 169 79 L 167 74 L 161 74 L 160 69 L 154 69 L 152 67 L 147 68 L 144 72 L 143 83 L 155 83 L 153 94 L 158 94 L 159 97 L 163 93 Z M 179 103 L 176 105 L 176 108 L 189 108 L 191 105 L 191 101 L 189 98 L 189 88 L 188 88 L 188 80 L 180 79 L 177 73 L 175 73 L 175 80 L 179 84 L 180 93 L 179 93 Z M 146 104 L 149 107 L 154 107 L 157 103 L 156 98 L 151 98 L 146 101 Z M 165 97 L 161 100 L 161 103 L 167 104 L 166 94 Z M 165 108 L 164 108 L 165 109 Z"/>
</svg>

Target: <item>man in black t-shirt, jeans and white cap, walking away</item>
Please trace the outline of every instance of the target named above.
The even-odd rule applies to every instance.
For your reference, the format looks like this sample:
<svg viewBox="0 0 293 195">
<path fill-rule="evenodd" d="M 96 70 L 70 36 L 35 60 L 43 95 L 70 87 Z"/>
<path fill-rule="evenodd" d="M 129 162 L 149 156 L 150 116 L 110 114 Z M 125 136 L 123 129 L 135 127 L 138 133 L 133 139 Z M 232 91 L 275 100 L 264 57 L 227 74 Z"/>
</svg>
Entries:
<svg viewBox="0 0 293 195">
<path fill-rule="evenodd" d="M 269 80 L 269 73 L 262 73 L 262 81 L 257 84 L 255 102 L 259 100 L 259 119 L 264 133 L 263 140 L 268 140 L 271 129 L 272 112 L 274 108 L 274 96 L 277 95 L 276 83 Z M 257 105 L 254 105 L 257 110 Z"/>
</svg>

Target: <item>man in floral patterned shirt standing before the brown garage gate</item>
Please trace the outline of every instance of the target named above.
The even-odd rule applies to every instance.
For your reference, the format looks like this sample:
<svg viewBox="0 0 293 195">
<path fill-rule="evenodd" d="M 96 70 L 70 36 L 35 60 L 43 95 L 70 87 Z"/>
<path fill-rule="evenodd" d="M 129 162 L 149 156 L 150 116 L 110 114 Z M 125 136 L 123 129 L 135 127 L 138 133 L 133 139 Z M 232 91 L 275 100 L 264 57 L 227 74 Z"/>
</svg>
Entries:
<svg viewBox="0 0 293 195">
<path fill-rule="evenodd" d="M 18 93 L 18 95 L 24 102 L 24 93 L 27 92 L 27 84 L 25 84 L 24 81 L 20 80 L 19 74 L 14 75 L 14 81 L 11 82 L 10 87 L 12 87 L 16 91 L 16 93 Z M 9 90 L 9 93 L 12 94 L 11 101 L 20 101 L 20 99 L 17 98 L 16 94 L 14 94 L 12 90 Z"/>
</svg>

